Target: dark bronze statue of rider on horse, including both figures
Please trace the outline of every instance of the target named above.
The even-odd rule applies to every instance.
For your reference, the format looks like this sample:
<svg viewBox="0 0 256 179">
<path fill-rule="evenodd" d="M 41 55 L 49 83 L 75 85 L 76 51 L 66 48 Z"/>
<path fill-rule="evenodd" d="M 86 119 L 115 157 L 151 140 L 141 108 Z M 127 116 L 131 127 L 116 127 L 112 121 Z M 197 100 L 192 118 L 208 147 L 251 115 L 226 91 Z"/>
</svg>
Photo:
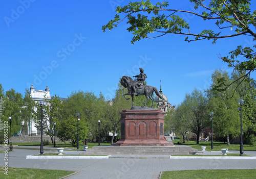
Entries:
<svg viewBox="0 0 256 179">
<path fill-rule="evenodd" d="M 161 99 L 163 99 L 162 95 L 159 93 L 159 91 L 156 87 L 144 85 L 144 81 L 147 78 L 147 76 L 146 76 L 146 74 L 144 74 L 143 68 L 140 68 L 140 74 L 135 75 L 133 77 L 137 78 L 137 80 L 133 80 L 130 76 L 122 76 L 122 79 L 120 80 L 120 84 L 124 88 L 128 89 L 128 93 L 123 94 L 125 99 L 127 99 L 127 100 L 130 99 L 130 98 L 126 98 L 125 95 L 131 95 L 131 97 L 132 97 L 132 100 L 133 100 L 132 107 L 134 107 L 134 98 L 133 98 L 134 95 L 135 96 L 145 95 L 146 101 L 144 103 L 144 106 L 142 106 L 142 108 L 146 106 L 148 99 L 152 100 L 151 108 L 153 108 L 153 106 L 154 106 L 153 92 L 154 91 L 157 96 L 159 96 Z"/>
</svg>

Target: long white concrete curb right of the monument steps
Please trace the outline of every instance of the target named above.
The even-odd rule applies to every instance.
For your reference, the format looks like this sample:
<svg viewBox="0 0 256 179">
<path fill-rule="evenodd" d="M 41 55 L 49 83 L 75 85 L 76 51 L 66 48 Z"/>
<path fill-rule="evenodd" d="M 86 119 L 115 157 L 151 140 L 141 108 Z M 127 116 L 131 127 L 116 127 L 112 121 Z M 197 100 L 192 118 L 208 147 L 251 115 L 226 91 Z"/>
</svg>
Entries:
<svg viewBox="0 0 256 179">
<path fill-rule="evenodd" d="M 203 157 L 203 156 L 170 156 L 170 159 L 252 159 L 256 160 L 256 157 L 235 157 L 235 156 L 223 156 L 223 157 Z"/>
</svg>

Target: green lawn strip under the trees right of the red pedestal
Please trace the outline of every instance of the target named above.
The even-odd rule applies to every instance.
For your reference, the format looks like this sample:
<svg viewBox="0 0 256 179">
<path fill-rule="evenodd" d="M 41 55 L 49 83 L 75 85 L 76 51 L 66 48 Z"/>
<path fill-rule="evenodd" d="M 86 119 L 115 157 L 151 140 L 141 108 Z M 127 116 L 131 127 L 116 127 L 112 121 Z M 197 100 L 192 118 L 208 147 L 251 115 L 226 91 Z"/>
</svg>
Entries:
<svg viewBox="0 0 256 179">
<path fill-rule="evenodd" d="M 197 144 L 196 141 L 188 141 L 188 142 L 186 141 L 185 143 L 180 142 L 180 144 L 178 144 L 177 141 L 174 141 L 174 145 L 187 145 L 198 150 L 202 150 L 201 145 L 205 145 L 206 146 L 205 150 L 208 150 L 208 151 L 220 151 L 221 148 L 228 148 L 228 150 L 240 150 L 240 144 L 227 145 L 227 144 L 224 144 L 223 142 L 215 142 L 215 141 L 214 141 L 214 149 L 212 150 L 211 150 L 211 141 L 199 142 L 199 144 Z M 256 146 L 244 144 L 244 150 L 256 151 Z"/>
</svg>

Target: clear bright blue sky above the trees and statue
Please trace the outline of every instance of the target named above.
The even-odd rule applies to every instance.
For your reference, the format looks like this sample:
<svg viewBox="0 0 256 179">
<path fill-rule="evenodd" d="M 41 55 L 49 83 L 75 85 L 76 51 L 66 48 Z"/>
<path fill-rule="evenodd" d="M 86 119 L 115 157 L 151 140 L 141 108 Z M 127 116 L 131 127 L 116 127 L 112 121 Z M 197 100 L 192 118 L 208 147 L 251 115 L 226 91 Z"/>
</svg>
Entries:
<svg viewBox="0 0 256 179">
<path fill-rule="evenodd" d="M 112 98 L 119 78 L 139 74 L 142 67 L 147 84 L 159 89 L 162 80 L 169 103 L 178 105 L 186 93 L 208 88 L 213 70 L 232 70 L 218 58 L 220 55 L 227 56 L 238 45 L 255 45 L 248 36 L 220 39 L 213 45 L 207 40 L 188 43 L 185 36 L 177 35 L 132 45 L 133 36 L 126 31 L 126 23 L 103 33 L 102 25 L 116 14 L 114 8 L 129 2 L 1 1 L 0 83 L 4 90 L 13 88 L 24 94 L 33 84 L 35 90 L 48 86 L 51 95 L 59 97 L 83 90 Z M 188 0 L 172 0 L 169 5 L 193 11 Z M 214 27 L 195 16 L 181 17 L 192 27 L 191 33 Z"/>
</svg>

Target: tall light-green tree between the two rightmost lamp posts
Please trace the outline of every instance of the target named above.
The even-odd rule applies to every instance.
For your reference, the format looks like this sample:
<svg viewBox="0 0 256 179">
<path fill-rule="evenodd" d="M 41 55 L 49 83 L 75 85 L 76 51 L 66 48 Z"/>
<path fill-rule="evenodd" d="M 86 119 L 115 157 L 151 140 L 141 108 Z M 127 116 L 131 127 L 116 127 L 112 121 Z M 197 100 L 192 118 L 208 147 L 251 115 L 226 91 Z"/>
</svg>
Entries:
<svg viewBox="0 0 256 179">
<path fill-rule="evenodd" d="M 218 83 L 219 78 L 223 78 L 227 82 L 231 81 L 228 73 L 224 70 L 215 70 L 212 73 L 212 85 L 205 91 L 209 98 L 208 113 L 214 112 L 214 133 L 220 137 L 227 137 L 227 145 L 229 145 L 229 135 L 237 137 L 240 134 L 240 118 L 237 112 L 239 95 L 236 91 L 233 93 L 231 87 L 226 91 L 216 92 L 214 86 Z M 233 98 L 227 97 L 232 93 Z"/>
</svg>

